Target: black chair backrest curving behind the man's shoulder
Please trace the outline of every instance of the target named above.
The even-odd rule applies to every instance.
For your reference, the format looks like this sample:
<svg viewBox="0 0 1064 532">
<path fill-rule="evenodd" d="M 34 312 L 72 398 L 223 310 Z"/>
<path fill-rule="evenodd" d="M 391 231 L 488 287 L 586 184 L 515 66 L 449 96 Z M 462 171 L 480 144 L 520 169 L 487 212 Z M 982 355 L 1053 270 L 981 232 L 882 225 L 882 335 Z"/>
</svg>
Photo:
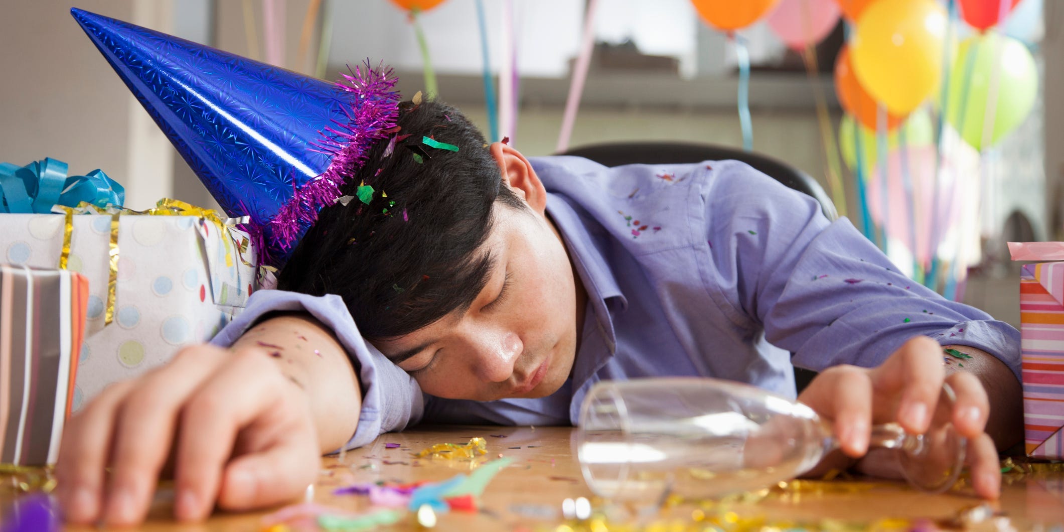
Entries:
<svg viewBox="0 0 1064 532">
<path fill-rule="evenodd" d="M 604 166 L 742 161 L 787 187 L 812 196 L 820 203 L 820 210 L 829 220 L 838 217 L 831 198 L 808 173 L 775 159 L 734 148 L 692 143 L 611 143 L 581 146 L 559 155 L 578 155 Z M 801 393 L 816 375 L 816 371 L 796 367 L 795 387 L 798 393 Z"/>
</svg>

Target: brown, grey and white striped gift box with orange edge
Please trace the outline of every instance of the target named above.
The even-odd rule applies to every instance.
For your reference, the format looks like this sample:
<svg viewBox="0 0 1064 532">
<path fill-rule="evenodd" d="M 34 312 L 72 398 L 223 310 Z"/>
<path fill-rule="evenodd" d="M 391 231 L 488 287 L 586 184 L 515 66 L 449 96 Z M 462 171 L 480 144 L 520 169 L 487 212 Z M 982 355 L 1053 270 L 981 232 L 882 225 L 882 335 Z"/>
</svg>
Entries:
<svg viewBox="0 0 1064 532">
<path fill-rule="evenodd" d="M 0 463 L 55 462 L 87 301 L 80 273 L 0 264 Z"/>
</svg>

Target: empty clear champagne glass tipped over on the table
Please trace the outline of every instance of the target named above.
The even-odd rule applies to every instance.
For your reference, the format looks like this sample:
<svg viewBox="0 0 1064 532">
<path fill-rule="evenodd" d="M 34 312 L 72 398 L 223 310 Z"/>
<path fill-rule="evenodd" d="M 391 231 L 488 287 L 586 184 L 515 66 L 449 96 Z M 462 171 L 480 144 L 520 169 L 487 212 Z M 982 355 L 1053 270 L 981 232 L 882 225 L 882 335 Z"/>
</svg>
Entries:
<svg viewBox="0 0 1064 532">
<path fill-rule="evenodd" d="M 898 452 L 913 486 L 948 489 L 964 465 L 954 396 L 943 386 L 931 427 L 871 429 L 869 449 Z M 597 495 L 656 500 L 666 493 L 717 498 L 771 486 L 838 449 L 831 422 L 813 409 L 749 384 L 709 378 L 602 381 L 587 393 L 576 435 L 580 467 Z"/>
</svg>

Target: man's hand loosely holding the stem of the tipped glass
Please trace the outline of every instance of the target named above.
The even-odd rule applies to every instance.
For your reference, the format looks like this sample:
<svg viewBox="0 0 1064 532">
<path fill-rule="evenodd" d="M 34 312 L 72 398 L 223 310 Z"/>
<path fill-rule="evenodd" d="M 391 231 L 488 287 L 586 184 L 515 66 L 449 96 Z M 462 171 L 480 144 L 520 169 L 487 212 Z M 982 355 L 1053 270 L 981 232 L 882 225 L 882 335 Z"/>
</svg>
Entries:
<svg viewBox="0 0 1064 532">
<path fill-rule="evenodd" d="M 987 362 L 985 359 L 992 358 L 980 354 L 981 362 Z M 1008 372 L 1008 379 L 1015 381 L 1008 368 L 998 364 L 1000 368 L 994 369 Z M 976 492 L 981 497 L 995 499 L 1000 493 L 1001 472 L 995 443 L 985 432 L 991 414 L 986 390 L 971 372 L 962 369 L 947 375 L 943 348 L 936 342 L 925 336 L 914 337 L 876 368 L 845 365 L 828 368 L 810 383 L 798 400 L 834 422 L 835 437 L 843 452 L 851 459 L 863 458 L 857 463 L 859 470 L 897 477 L 899 471 L 891 470 L 894 462 L 883 460 L 888 458 L 886 452 L 865 455 L 871 425 L 897 421 L 909 433 L 924 433 L 931 423 L 943 383 L 948 383 L 957 395 L 951 421 L 957 431 L 968 438 L 967 462 Z M 1018 383 L 1014 388 L 1010 396 L 1018 396 Z M 1005 402 L 1012 403 L 1011 400 Z M 817 469 L 845 468 L 850 462 L 839 456 L 829 458 Z"/>
</svg>

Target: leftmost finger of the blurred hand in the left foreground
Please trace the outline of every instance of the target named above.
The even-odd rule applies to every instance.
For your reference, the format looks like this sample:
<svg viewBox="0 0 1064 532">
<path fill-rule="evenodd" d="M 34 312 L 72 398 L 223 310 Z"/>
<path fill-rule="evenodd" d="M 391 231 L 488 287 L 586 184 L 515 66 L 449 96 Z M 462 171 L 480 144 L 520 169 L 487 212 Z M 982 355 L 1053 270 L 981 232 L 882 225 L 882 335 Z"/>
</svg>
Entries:
<svg viewBox="0 0 1064 532">
<path fill-rule="evenodd" d="M 60 504 L 69 522 L 90 525 L 100 517 L 111 428 L 118 405 L 132 386 L 131 381 L 112 384 L 71 417 L 63 430 L 55 478 Z"/>
</svg>

